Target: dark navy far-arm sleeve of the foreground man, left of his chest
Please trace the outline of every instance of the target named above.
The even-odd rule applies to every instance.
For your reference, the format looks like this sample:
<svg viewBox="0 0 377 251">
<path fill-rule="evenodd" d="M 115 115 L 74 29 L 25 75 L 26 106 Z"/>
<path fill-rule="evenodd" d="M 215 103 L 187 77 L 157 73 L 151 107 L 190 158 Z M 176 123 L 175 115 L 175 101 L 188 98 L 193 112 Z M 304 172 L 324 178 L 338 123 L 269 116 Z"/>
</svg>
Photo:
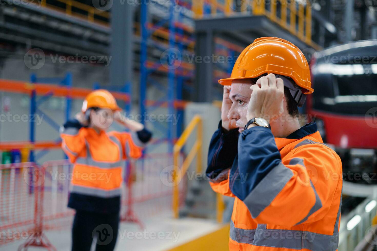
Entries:
<svg viewBox="0 0 377 251">
<path fill-rule="evenodd" d="M 229 171 L 236 161 L 239 132 L 237 129 L 225 133 L 221 127 L 211 138 L 208 150 L 208 165 L 205 171 L 212 189 L 222 195 L 234 197 L 229 189 Z"/>
</svg>

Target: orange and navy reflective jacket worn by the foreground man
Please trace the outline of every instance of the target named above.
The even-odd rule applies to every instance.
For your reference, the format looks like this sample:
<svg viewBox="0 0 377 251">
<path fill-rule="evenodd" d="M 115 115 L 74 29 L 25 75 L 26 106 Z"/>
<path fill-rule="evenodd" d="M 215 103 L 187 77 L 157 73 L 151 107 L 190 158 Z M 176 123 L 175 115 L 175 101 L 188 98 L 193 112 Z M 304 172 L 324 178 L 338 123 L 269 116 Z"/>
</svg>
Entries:
<svg viewBox="0 0 377 251">
<path fill-rule="evenodd" d="M 337 250 L 342 163 L 310 123 L 287 138 L 261 126 L 212 137 L 207 176 L 235 197 L 230 250 Z"/>
</svg>

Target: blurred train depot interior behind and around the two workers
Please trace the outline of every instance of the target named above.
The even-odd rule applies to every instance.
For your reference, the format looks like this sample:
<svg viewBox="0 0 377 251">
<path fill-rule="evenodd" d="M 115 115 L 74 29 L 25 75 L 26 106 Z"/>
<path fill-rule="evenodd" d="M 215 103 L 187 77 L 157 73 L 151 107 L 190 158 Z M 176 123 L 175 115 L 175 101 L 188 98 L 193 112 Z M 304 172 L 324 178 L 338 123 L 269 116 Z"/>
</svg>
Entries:
<svg viewBox="0 0 377 251">
<path fill-rule="evenodd" d="M 70 250 L 59 131 L 97 89 L 153 133 L 124 164 L 115 250 L 228 250 L 233 199 L 204 172 L 218 80 L 259 37 L 288 40 L 309 62 L 316 91 L 299 119 L 342 160 L 338 250 L 375 250 L 373 0 L 0 0 L 0 250 Z"/>
</svg>

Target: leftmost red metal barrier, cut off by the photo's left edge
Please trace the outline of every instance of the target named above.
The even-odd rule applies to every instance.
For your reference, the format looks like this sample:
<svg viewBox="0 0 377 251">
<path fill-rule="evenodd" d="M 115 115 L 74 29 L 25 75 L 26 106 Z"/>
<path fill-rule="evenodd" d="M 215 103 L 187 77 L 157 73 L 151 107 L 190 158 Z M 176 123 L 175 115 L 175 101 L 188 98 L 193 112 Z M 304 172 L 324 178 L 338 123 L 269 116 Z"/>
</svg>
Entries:
<svg viewBox="0 0 377 251">
<path fill-rule="evenodd" d="M 55 250 L 42 226 L 44 169 L 32 162 L 0 165 L 0 247 L 24 239 L 29 246 Z"/>
</svg>

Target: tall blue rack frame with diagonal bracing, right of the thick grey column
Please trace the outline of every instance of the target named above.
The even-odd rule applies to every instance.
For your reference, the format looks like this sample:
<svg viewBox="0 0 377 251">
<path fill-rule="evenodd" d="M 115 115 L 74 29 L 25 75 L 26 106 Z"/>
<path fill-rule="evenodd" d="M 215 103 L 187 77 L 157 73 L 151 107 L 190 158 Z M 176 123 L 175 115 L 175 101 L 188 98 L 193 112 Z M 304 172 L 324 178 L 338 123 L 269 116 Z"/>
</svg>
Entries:
<svg viewBox="0 0 377 251">
<path fill-rule="evenodd" d="M 169 9 L 167 9 L 169 15 L 167 19 L 162 19 L 158 21 L 152 28 L 149 27 L 149 23 L 147 20 L 147 9 L 148 0 L 142 1 L 141 9 L 140 9 L 140 29 L 141 29 L 141 50 L 140 50 L 140 113 L 143 119 L 143 124 L 145 124 L 145 116 L 147 113 L 150 113 L 154 108 L 161 107 L 163 104 L 167 104 L 168 114 L 172 116 L 179 116 L 177 124 L 174 124 L 173 121 L 169 121 L 167 126 L 164 126 L 160 123 L 154 123 L 153 126 L 158 131 L 162 132 L 164 137 L 159 138 L 155 141 L 154 145 L 148 146 L 148 151 L 153 149 L 158 143 L 167 142 L 168 143 L 168 150 L 172 152 L 174 140 L 177 136 L 181 134 L 181 127 L 182 127 L 182 113 L 183 111 L 176 109 L 175 107 L 175 100 L 182 99 L 182 87 L 184 82 L 184 77 L 179 73 L 179 70 L 175 69 L 175 67 L 169 68 L 167 71 L 167 88 L 159 83 L 156 79 L 154 79 L 149 74 L 154 71 L 158 70 L 158 64 L 153 64 L 152 67 L 147 67 L 147 45 L 149 43 L 149 37 L 153 33 L 154 30 L 159 29 L 162 27 L 164 23 L 168 24 L 169 29 L 169 46 L 168 49 L 174 49 L 178 45 L 179 51 L 183 51 L 183 45 L 176 41 L 175 37 L 176 34 L 182 35 L 183 37 L 183 29 L 180 27 L 176 27 L 176 21 L 179 20 L 179 15 L 181 13 L 175 13 L 175 2 L 171 1 L 169 5 Z M 161 49 L 162 51 L 166 50 L 167 48 L 164 45 L 159 45 L 155 41 L 150 41 L 153 43 L 157 48 Z M 173 54 L 173 53 L 171 53 Z M 177 55 L 174 55 L 177 56 Z M 168 56 L 169 57 L 169 56 Z M 162 60 L 162 59 L 161 59 Z M 170 59 L 167 59 L 170 60 Z M 174 60 L 174 59 L 172 59 Z M 162 63 L 162 62 L 161 62 Z M 168 63 L 169 64 L 169 63 Z M 161 65 L 161 64 L 159 64 Z M 147 87 L 148 85 L 155 85 L 158 90 L 166 90 L 164 93 L 164 97 L 158 100 L 153 100 L 152 104 L 147 104 Z M 178 113 L 178 114 L 176 114 Z"/>
</svg>

